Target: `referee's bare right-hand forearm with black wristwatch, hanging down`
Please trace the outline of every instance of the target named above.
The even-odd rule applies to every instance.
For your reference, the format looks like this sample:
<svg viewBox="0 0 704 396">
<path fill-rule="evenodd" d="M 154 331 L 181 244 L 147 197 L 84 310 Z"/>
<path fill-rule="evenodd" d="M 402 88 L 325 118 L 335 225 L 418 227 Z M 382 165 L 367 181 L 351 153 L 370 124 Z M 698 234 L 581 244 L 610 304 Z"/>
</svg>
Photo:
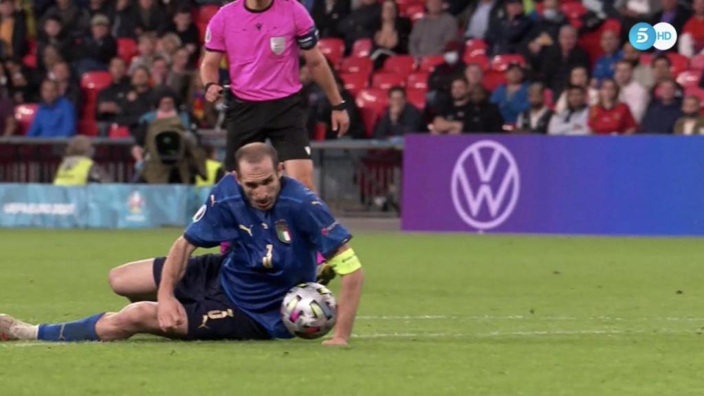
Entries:
<svg viewBox="0 0 704 396">
<path fill-rule="evenodd" d="M 320 85 L 325 96 L 333 106 L 332 111 L 332 130 L 337 130 L 338 136 L 343 136 L 347 133 L 350 126 L 350 117 L 343 107 L 337 107 L 342 104 L 342 96 L 337 89 L 337 83 L 332 75 L 332 70 L 327 65 L 325 55 L 320 52 L 316 46 L 312 49 L 303 51 L 303 56 L 306 58 L 306 65 L 310 68 L 310 75 L 313 75 L 313 80 Z"/>
</svg>

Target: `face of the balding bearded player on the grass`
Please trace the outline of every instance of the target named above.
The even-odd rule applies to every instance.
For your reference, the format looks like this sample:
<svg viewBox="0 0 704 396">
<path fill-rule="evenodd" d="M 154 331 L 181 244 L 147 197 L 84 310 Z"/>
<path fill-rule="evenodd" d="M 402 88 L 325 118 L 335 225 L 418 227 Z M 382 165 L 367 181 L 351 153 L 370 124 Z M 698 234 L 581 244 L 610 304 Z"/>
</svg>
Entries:
<svg viewBox="0 0 704 396">
<path fill-rule="evenodd" d="M 274 166 L 270 159 L 258 163 L 241 161 L 237 180 L 249 199 L 249 204 L 260 211 L 268 211 L 276 203 L 281 191 L 283 165 Z"/>
</svg>

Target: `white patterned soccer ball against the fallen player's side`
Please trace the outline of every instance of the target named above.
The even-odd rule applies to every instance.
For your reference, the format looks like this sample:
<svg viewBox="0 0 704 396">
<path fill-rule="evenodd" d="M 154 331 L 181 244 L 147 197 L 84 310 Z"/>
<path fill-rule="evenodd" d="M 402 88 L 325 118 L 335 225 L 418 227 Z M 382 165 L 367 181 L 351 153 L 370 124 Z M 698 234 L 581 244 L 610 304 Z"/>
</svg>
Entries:
<svg viewBox="0 0 704 396">
<path fill-rule="evenodd" d="M 337 302 L 319 283 L 293 287 L 281 304 L 281 318 L 292 335 L 313 340 L 326 335 L 337 321 Z"/>
</svg>

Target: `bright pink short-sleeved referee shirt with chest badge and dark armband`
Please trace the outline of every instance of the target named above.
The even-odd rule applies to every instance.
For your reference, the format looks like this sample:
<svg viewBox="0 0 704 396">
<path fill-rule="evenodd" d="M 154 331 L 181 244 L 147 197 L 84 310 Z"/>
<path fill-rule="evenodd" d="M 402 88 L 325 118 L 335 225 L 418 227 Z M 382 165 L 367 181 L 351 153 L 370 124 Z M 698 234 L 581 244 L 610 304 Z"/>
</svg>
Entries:
<svg viewBox="0 0 704 396">
<path fill-rule="evenodd" d="M 313 18 L 296 0 L 272 0 L 263 11 L 237 0 L 213 16 L 205 41 L 208 51 L 227 56 L 235 96 L 266 101 L 301 90 L 298 48 L 315 47 L 317 34 Z"/>
</svg>

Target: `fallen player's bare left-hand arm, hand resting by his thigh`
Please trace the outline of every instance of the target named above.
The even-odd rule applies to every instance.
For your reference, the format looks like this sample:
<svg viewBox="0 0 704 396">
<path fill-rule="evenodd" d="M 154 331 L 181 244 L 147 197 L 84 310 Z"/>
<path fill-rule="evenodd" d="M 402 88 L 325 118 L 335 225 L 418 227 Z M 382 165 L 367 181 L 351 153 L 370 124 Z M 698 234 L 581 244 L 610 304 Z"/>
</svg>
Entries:
<svg viewBox="0 0 704 396">
<path fill-rule="evenodd" d="M 186 312 L 174 296 L 174 288 L 183 278 L 188 259 L 195 249 L 184 237 L 179 237 L 166 257 L 157 294 L 159 327 L 164 332 L 174 330 L 186 321 Z"/>
</svg>

